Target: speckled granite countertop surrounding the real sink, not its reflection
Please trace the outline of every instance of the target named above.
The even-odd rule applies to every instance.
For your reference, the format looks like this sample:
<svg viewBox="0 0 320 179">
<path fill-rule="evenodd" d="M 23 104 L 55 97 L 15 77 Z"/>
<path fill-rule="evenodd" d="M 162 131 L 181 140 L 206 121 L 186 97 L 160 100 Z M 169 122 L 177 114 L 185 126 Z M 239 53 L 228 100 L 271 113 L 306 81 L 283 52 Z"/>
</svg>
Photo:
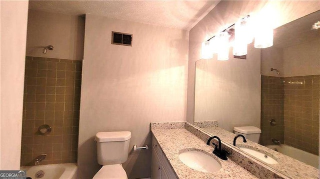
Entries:
<svg viewBox="0 0 320 179">
<path fill-rule="evenodd" d="M 212 154 L 212 147 L 207 146 L 202 140 L 184 128 L 151 129 L 151 132 L 179 179 L 257 179 L 231 160 L 223 161 L 217 158 Z M 220 171 L 216 173 L 198 172 L 184 165 L 179 160 L 179 152 L 194 149 L 215 158 L 221 164 Z"/>
</svg>

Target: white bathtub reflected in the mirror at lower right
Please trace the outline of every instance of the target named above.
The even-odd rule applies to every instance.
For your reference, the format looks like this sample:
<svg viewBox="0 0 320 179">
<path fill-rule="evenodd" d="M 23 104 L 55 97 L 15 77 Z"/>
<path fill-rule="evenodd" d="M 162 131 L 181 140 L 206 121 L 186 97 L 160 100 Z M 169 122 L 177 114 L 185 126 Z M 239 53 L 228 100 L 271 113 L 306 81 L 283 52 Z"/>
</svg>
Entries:
<svg viewBox="0 0 320 179">
<path fill-rule="evenodd" d="M 267 148 L 270 148 L 272 150 L 277 149 L 277 151 L 281 154 L 284 154 L 286 156 L 289 156 L 293 159 L 296 159 L 298 161 L 301 161 L 307 165 L 313 166 L 314 168 L 318 169 L 319 166 L 319 156 L 310 154 L 308 152 L 302 151 L 300 149 L 296 149 L 294 147 L 281 144 L 280 146 L 277 145 L 269 145 L 265 146 Z"/>
</svg>

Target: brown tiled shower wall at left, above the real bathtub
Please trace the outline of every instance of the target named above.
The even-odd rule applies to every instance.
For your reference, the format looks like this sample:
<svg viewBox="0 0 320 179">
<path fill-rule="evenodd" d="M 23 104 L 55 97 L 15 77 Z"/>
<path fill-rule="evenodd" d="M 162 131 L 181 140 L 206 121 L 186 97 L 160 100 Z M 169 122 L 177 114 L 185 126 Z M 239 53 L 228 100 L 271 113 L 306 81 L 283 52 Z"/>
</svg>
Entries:
<svg viewBox="0 0 320 179">
<path fill-rule="evenodd" d="M 82 61 L 26 57 L 21 166 L 73 163 L 77 159 Z M 52 127 L 40 135 L 42 124 Z"/>
</svg>

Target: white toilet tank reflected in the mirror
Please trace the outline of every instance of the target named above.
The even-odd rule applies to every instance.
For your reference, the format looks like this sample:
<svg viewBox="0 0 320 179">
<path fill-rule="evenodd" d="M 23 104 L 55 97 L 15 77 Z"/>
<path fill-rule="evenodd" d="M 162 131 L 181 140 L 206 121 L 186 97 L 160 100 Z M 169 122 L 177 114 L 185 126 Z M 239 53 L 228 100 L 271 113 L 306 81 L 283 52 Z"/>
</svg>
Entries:
<svg viewBox="0 0 320 179">
<path fill-rule="evenodd" d="M 261 129 L 254 127 L 254 126 L 241 126 L 241 127 L 234 127 L 233 128 L 234 134 L 241 134 L 252 142 L 258 143 Z"/>
</svg>

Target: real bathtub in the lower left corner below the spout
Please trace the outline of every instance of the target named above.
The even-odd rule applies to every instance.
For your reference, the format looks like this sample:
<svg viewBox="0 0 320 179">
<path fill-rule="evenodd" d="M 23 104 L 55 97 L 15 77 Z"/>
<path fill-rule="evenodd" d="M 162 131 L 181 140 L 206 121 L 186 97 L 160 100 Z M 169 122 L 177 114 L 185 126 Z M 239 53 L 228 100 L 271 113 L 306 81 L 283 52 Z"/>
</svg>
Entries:
<svg viewBox="0 0 320 179">
<path fill-rule="evenodd" d="M 76 179 L 77 174 L 75 163 L 25 166 L 21 167 L 20 170 L 26 171 L 26 177 L 32 179 L 36 179 L 35 173 L 38 171 L 44 172 L 41 179 Z"/>
</svg>

